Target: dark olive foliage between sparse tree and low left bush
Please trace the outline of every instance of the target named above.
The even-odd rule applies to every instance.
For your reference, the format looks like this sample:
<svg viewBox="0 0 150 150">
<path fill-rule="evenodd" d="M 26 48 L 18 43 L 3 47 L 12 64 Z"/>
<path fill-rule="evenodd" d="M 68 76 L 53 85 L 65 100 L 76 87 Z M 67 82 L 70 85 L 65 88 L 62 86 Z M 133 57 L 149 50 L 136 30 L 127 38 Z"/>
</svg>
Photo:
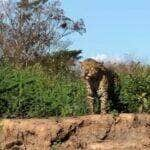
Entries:
<svg viewBox="0 0 150 150">
<path fill-rule="evenodd" d="M 47 54 L 45 56 L 36 56 L 31 64 L 39 62 L 42 68 L 49 74 L 66 74 L 70 71 L 73 73 L 75 62 L 81 58 L 81 50 L 61 50 Z"/>
</svg>

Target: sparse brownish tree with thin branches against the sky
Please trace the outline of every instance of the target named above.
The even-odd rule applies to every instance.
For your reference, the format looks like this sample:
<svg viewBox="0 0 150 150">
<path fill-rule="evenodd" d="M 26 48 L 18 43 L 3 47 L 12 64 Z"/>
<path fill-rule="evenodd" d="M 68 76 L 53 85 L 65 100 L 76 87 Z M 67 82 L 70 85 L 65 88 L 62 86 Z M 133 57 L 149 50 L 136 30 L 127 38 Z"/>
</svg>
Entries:
<svg viewBox="0 0 150 150">
<path fill-rule="evenodd" d="M 66 36 L 86 29 L 82 19 L 67 17 L 58 0 L 21 0 L 4 7 L 5 30 L 1 33 L 1 48 L 13 64 L 25 64 L 37 55 L 66 49 Z"/>
</svg>

